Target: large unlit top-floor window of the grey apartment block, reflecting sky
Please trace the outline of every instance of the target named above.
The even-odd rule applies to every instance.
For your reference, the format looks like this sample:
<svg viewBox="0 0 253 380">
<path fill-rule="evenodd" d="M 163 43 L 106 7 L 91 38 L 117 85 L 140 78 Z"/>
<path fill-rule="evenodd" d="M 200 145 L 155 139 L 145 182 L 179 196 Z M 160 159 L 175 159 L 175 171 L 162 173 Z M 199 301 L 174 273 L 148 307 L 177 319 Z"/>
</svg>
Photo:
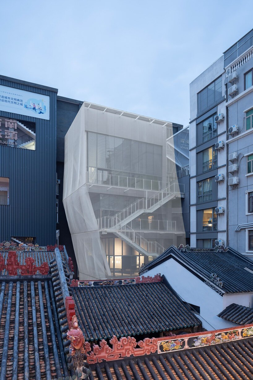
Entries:
<svg viewBox="0 0 253 380">
<path fill-rule="evenodd" d="M 198 114 L 222 100 L 222 76 L 198 93 Z"/>
</svg>

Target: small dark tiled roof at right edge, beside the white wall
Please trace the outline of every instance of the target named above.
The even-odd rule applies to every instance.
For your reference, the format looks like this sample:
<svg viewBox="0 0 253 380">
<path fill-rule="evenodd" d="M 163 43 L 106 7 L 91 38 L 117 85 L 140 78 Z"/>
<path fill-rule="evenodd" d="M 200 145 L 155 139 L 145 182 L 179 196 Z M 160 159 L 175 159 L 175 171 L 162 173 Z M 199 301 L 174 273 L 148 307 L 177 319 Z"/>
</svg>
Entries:
<svg viewBox="0 0 253 380">
<path fill-rule="evenodd" d="M 242 305 L 231 304 L 218 314 L 218 317 L 238 323 L 239 325 L 246 325 L 253 323 L 253 309 Z"/>
</svg>

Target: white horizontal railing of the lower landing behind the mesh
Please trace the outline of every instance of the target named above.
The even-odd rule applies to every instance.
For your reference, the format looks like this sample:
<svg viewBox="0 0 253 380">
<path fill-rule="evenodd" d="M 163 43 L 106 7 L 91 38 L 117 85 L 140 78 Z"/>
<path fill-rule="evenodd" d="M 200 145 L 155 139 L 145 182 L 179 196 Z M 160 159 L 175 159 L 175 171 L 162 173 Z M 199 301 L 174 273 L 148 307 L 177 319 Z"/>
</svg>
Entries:
<svg viewBox="0 0 253 380">
<path fill-rule="evenodd" d="M 100 230 L 113 228 L 112 220 L 108 216 L 97 219 L 97 225 Z M 125 231 L 125 227 L 130 227 L 135 231 L 176 231 L 176 220 L 147 220 L 137 218 L 131 220 L 127 225 L 120 227 L 120 230 Z"/>
</svg>

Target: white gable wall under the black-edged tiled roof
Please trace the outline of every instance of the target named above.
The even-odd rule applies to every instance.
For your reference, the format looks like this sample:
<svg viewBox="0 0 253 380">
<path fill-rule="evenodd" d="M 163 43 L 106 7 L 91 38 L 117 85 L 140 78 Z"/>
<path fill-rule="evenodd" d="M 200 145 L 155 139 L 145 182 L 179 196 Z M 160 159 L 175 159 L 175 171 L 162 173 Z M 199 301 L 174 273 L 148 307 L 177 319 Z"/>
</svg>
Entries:
<svg viewBox="0 0 253 380">
<path fill-rule="evenodd" d="M 197 317 L 207 330 L 223 329 L 238 326 L 220 317 L 217 314 L 225 308 L 223 297 L 204 284 L 195 275 L 190 273 L 173 258 L 165 261 L 144 275 L 154 276 L 157 273 L 164 275 L 171 287 L 179 294 L 183 301 L 200 306 L 200 315 Z M 233 303 L 234 301 L 230 302 Z"/>
</svg>

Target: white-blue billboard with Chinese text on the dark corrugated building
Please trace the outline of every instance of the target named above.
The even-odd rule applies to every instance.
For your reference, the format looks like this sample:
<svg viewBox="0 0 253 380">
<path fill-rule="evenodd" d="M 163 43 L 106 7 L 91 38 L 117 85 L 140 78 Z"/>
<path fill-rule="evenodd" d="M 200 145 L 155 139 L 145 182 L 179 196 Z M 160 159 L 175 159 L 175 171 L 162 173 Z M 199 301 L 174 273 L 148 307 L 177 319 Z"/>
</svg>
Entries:
<svg viewBox="0 0 253 380">
<path fill-rule="evenodd" d="M 0 85 L 0 111 L 49 120 L 50 97 Z"/>
</svg>

